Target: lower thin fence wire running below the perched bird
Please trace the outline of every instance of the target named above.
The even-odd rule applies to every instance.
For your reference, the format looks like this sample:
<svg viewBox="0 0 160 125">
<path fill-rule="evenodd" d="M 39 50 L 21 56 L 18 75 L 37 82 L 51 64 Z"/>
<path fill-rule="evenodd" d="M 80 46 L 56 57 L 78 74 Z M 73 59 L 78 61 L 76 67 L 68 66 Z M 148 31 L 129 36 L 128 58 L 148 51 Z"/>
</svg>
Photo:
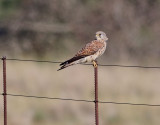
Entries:
<svg viewBox="0 0 160 125">
<path fill-rule="evenodd" d="M 3 93 L 1 95 L 4 95 Z M 39 99 L 50 99 L 50 100 L 64 100 L 64 101 L 76 101 L 76 102 L 94 102 L 91 100 L 82 100 L 82 99 L 68 99 L 68 98 L 53 98 L 45 96 L 29 96 L 29 95 L 17 95 L 17 94 L 6 94 L 9 96 L 19 96 L 26 98 L 39 98 Z M 131 105 L 131 106 L 151 106 L 151 107 L 160 107 L 160 104 L 145 104 L 145 103 L 129 103 L 129 102 L 107 102 L 107 101 L 98 101 L 102 104 L 116 104 L 116 105 Z"/>
</svg>

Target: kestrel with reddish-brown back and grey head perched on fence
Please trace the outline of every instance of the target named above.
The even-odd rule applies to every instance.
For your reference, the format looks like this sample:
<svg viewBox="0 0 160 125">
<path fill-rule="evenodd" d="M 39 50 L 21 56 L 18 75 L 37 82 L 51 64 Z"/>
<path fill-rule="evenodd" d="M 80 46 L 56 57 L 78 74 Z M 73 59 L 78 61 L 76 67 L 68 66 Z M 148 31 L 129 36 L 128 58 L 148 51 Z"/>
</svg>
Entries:
<svg viewBox="0 0 160 125">
<path fill-rule="evenodd" d="M 106 34 L 102 31 L 96 32 L 95 37 L 95 40 L 86 44 L 86 46 L 79 50 L 73 58 L 61 63 L 61 67 L 57 71 L 62 70 L 71 65 L 86 62 L 92 62 L 93 66 L 97 67 L 96 59 L 105 52 L 108 38 Z"/>
</svg>

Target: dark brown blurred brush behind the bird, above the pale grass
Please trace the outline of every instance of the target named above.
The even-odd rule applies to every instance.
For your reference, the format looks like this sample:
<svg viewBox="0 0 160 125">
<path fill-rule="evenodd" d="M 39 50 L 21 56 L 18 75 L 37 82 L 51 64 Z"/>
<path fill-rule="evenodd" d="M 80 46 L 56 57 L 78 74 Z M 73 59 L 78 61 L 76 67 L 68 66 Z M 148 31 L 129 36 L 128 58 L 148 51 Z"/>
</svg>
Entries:
<svg viewBox="0 0 160 125">
<path fill-rule="evenodd" d="M 159 0 L 10 0 L 1 2 L 1 53 L 57 59 L 94 38 L 109 37 L 107 58 L 159 57 Z M 10 51 L 8 51 L 10 50 Z M 118 54 L 117 54 L 118 53 Z"/>
</svg>

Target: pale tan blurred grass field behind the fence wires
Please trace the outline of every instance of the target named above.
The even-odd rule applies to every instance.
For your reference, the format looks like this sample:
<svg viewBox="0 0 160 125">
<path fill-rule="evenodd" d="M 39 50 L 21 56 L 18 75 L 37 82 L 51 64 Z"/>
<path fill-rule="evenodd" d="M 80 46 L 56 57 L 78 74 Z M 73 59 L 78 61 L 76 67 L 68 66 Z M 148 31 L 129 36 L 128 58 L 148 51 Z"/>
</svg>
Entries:
<svg viewBox="0 0 160 125">
<path fill-rule="evenodd" d="M 10 94 L 94 100 L 93 67 L 7 61 Z M 2 78 L 2 68 L 1 68 Z M 160 104 L 159 69 L 99 67 L 99 100 Z M 1 79 L 2 83 L 2 79 Z M 2 84 L 0 87 L 2 92 Z M 2 96 L 1 100 L 2 100 Z M 94 103 L 8 96 L 8 125 L 93 125 Z M 1 101 L 2 102 L 2 101 Z M 2 112 L 2 103 L 0 104 Z M 99 104 L 100 125 L 158 125 L 160 108 Z M 0 117 L 3 123 L 3 116 Z"/>
</svg>

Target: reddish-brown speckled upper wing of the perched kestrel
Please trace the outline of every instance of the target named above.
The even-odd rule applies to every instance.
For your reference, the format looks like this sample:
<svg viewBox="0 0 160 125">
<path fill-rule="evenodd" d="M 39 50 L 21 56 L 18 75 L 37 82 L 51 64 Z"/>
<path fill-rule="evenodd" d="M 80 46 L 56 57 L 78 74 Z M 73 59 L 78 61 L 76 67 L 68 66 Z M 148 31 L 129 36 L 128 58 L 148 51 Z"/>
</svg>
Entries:
<svg viewBox="0 0 160 125">
<path fill-rule="evenodd" d="M 99 49 L 103 48 L 104 44 L 98 40 L 94 40 L 88 44 L 86 44 L 85 47 L 83 47 L 81 50 L 77 52 L 75 57 L 79 56 L 90 56 L 95 54 Z"/>
</svg>

